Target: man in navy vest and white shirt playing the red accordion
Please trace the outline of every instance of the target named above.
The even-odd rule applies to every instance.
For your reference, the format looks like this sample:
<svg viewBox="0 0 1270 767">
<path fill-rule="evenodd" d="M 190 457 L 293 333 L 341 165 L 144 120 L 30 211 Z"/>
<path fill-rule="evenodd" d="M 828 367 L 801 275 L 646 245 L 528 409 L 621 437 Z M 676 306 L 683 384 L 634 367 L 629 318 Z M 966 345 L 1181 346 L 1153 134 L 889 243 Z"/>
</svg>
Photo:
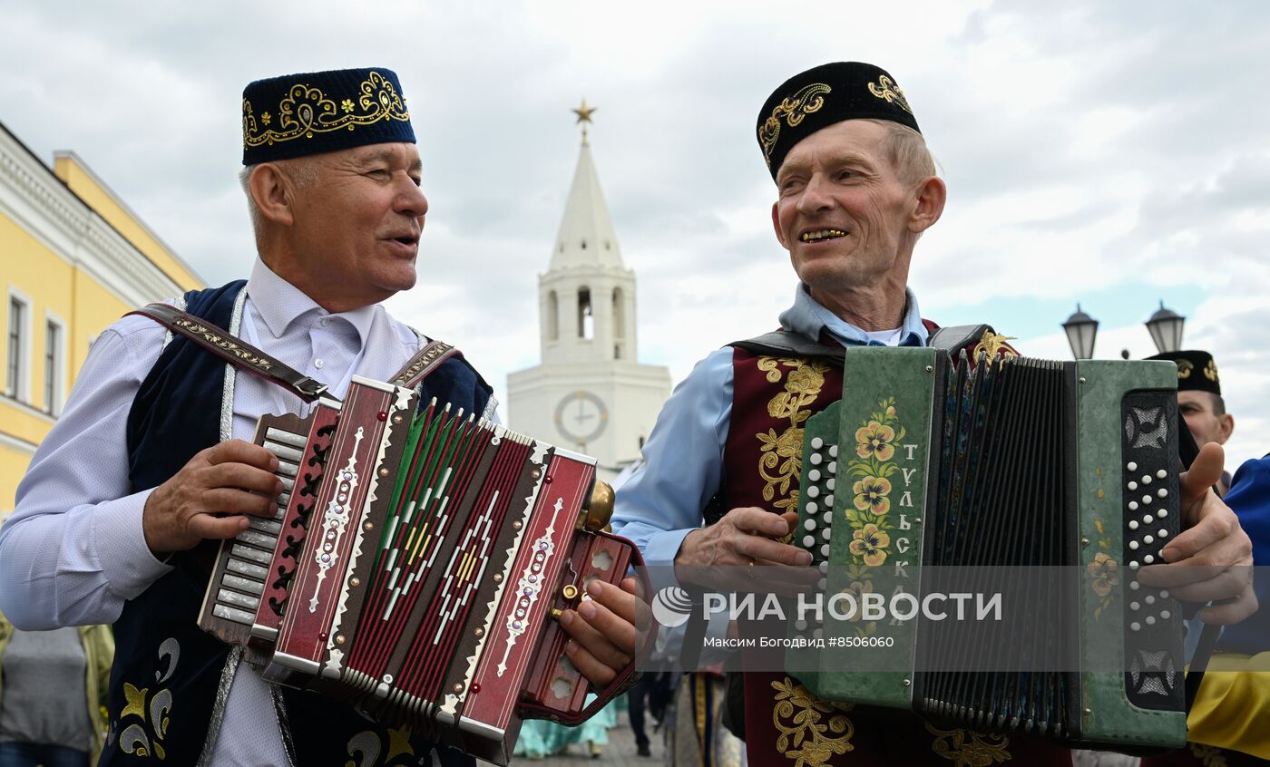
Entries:
<svg viewBox="0 0 1270 767">
<path fill-rule="evenodd" d="M 251 83 L 243 143 L 251 276 L 174 303 L 337 397 L 354 373 L 390 380 L 427 342 L 380 305 L 414 286 L 428 212 L 396 75 Z M 144 316 L 103 331 L 0 532 L 0 610 L 27 630 L 114 624 L 102 764 L 470 762 L 408 726 L 272 687 L 199 630 L 208 547 L 273 517 L 283 490 L 274 455 L 248 442 L 257 418 L 304 411 L 237 372 Z M 461 356 L 424 380 L 420 401 L 432 397 L 494 417 L 490 387 Z M 591 593 L 560 622 L 575 639 L 568 657 L 605 684 L 634 654 L 638 599 L 607 584 Z"/>
</svg>

